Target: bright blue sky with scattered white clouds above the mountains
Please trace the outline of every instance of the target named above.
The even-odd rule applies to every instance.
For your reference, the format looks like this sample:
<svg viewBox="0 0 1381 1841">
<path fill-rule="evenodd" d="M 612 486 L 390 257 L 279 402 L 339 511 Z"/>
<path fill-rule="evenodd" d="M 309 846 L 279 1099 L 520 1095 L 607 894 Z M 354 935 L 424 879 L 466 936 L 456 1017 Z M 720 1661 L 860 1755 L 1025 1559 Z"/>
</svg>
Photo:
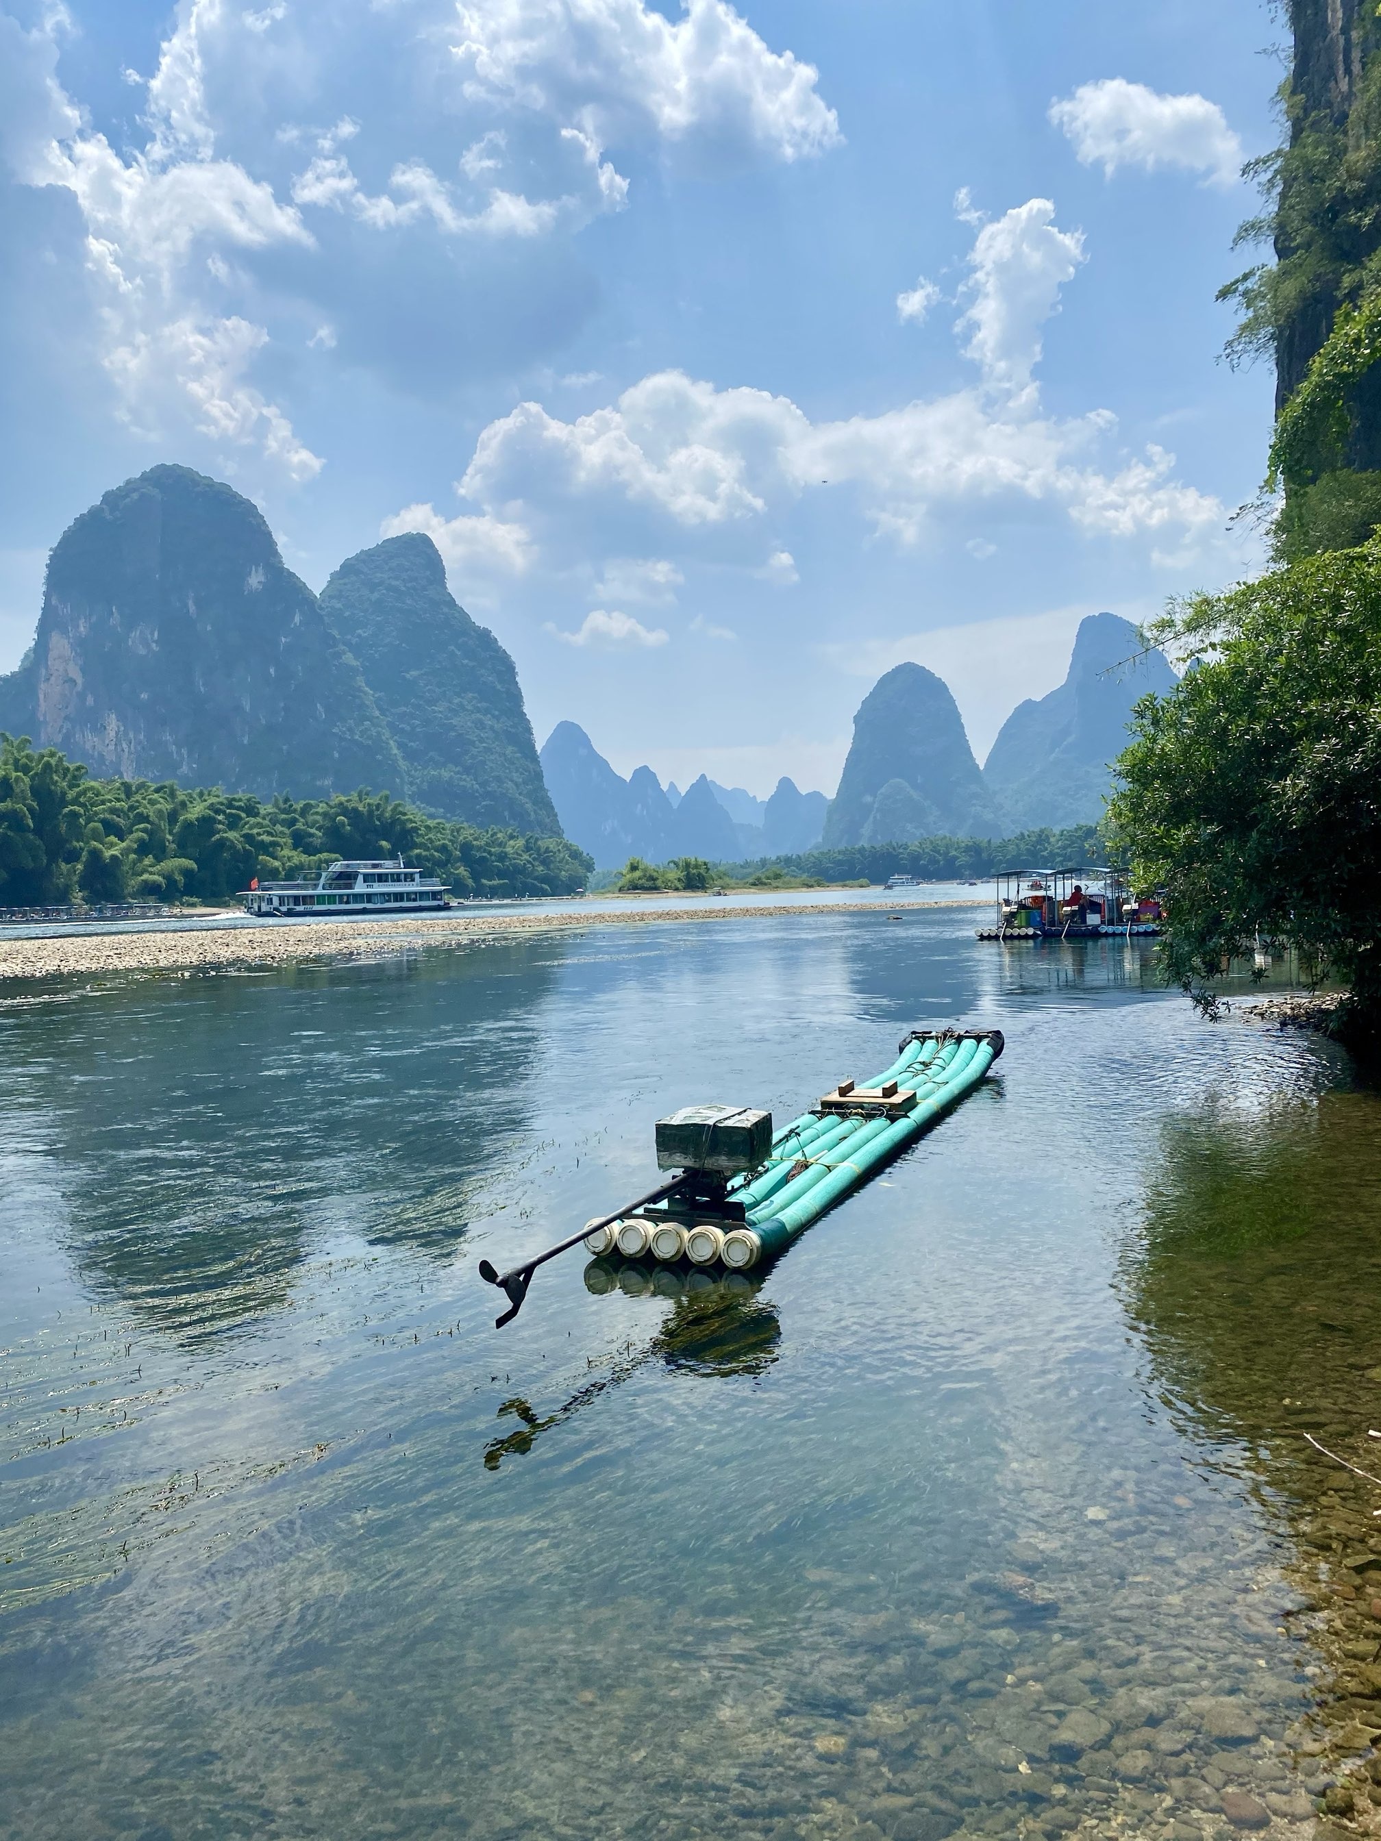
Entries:
<svg viewBox="0 0 1381 1841">
<path fill-rule="evenodd" d="M 0 7 L 0 668 L 157 460 L 313 587 L 429 530 L 540 740 L 759 793 L 1259 562 L 1261 0 Z"/>
</svg>

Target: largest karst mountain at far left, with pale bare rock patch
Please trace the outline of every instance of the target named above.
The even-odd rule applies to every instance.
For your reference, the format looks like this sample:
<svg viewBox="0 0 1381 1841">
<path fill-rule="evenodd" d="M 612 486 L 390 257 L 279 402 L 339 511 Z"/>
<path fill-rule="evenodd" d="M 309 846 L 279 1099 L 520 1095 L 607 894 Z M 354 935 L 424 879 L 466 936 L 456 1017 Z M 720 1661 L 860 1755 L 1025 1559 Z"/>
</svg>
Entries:
<svg viewBox="0 0 1381 1841">
<path fill-rule="evenodd" d="M 405 790 L 359 665 L 230 486 L 157 466 L 57 541 L 6 727 L 96 775 L 313 797 Z"/>
</svg>

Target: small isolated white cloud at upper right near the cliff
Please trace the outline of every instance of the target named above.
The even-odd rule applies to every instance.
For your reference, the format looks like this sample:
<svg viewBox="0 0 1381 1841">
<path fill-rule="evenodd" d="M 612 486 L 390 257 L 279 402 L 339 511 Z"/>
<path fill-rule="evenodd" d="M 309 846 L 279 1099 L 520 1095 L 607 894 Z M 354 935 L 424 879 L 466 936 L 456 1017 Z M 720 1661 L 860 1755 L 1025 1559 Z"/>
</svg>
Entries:
<svg viewBox="0 0 1381 1841">
<path fill-rule="evenodd" d="M 1108 177 L 1120 166 L 1147 173 L 1173 166 L 1230 186 L 1241 171 L 1241 142 L 1206 96 L 1162 96 L 1145 83 L 1103 77 L 1051 103 L 1050 120 L 1085 166 L 1101 164 Z"/>
</svg>

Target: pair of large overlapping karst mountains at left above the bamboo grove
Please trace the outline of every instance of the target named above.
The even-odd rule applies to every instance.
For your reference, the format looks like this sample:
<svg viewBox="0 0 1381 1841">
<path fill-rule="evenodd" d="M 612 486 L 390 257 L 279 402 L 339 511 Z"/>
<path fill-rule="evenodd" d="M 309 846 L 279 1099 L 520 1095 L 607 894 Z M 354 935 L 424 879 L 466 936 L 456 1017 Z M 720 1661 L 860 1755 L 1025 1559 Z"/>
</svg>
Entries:
<svg viewBox="0 0 1381 1841">
<path fill-rule="evenodd" d="M 361 550 L 319 598 L 249 499 L 180 466 L 63 532 L 0 729 L 96 775 L 263 799 L 372 786 L 560 834 L 512 659 L 451 600 L 429 538 Z"/>
</svg>

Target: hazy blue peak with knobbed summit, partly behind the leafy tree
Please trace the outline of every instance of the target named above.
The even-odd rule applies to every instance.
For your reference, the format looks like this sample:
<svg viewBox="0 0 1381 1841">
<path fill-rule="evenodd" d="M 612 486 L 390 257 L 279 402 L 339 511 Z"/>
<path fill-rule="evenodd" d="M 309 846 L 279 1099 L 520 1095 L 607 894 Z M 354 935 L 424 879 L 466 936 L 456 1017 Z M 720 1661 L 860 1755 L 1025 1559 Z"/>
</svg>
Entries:
<svg viewBox="0 0 1381 1841">
<path fill-rule="evenodd" d="M 983 779 L 1004 830 L 1096 825 L 1112 786 L 1110 764 L 1127 746 L 1132 705 L 1175 683 L 1164 654 L 1142 655 L 1131 620 L 1116 613 L 1081 620 L 1064 683 L 1018 703 L 987 757 Z"/>
</svg>

